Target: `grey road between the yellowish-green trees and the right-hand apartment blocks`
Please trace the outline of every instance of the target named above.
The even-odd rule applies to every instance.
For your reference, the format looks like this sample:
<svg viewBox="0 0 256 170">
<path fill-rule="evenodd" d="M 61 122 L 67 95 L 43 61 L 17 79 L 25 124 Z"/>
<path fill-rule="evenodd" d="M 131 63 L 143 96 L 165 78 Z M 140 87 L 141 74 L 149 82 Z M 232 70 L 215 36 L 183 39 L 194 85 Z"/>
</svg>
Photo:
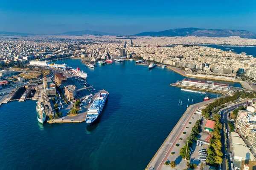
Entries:
<svg viewBox="0 0 256 170">
<path fill-rule="evenodd" d="M 256 100 L 256 98 L 253 98 L 251 100 L 254 101 L 254 100 Z M 226 128 L 227 128 L 228 132 L 230 132 L 230 128 L 228 127 L 228 124 L 227 124 L 227 122 L 229 121 L 228 117 L 227 117 L 227 113 L 233 111 L 234 109 L 236 109 L 236 107 L 243 106 L 244 104 L 247 104 L 247 100 L 242 101 L 241 103 L 238 103 L 238 104 L 234 104 L 231 107 L 225 107 L 219 111 L 219 112 L 221 112 L 221 118 L 222 118 L 221 122 L 223 124 L 226 124 Z M 233 161 L 232 162 L 230 161 L 229 153 L 231 152 L 232 156 L 234 156 L 234 155 L 233 155 L 232 148 L 231 148 L 231 146 L 232 146 L 231 138 L 227 138 L 227 136 L 225 136 L 224 131 L 225 131 L 225 129 L 223 129 L 221 132 L 221 144 L 222 144 L 221 152 L 223 153 L 221 169 L 227 170 L 226 158 L 229 160 L 229 169 L 231 169 L 231 163 L 233 163 Z M 227 153 L 226 153 L 226 148 L 225 148 L 225 138 L 227 138 Z"/>
</svg>

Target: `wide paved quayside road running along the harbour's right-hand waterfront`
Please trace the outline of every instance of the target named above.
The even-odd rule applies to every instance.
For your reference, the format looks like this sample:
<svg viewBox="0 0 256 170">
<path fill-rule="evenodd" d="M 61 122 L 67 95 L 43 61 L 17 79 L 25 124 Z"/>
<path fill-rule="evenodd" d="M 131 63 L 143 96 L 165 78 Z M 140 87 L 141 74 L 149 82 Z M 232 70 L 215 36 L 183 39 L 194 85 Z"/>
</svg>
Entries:
<svg viewBox="0 0 256 170">
<path fill-rule="evenodd" d="M 221 96 L 219 98 L 222 98 L 225 96 Z M 179 136 L 183 132 L 184 128 L 186 127 L 185 125 L 189 122 L 189 118 L 192 117 L 193 113 L 195 110 L 200 107 L 204 106 L 206 104 L 212 103 L 215 101 L 215 99 L 209 100 L 209 101 L 203 101 L 197 104 L 190 105 L 187 109 L 186 112 L 184 112 L 183 116 L 180 118 L 180 120 L 177 122 L 175 125 L 174 129 L 172 132 L 168 135 L 160 149 L 157 151 L 155 156 L 152 158 L 151 162 L 148 164 L 147 168 L 148 170 L 160 170 L 164 161 L 166 161 L 167 157 L 169 156 L 171 149 L 174 144 L 177 142 L 179 139 Z"/>
</svg>

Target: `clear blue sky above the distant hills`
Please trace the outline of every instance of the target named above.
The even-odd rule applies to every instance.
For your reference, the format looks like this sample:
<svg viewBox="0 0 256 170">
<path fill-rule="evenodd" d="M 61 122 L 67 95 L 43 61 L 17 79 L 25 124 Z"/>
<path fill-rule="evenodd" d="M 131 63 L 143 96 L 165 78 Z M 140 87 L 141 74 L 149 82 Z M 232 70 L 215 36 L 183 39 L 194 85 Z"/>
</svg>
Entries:
<svg viewBox="0 0 256 170">
<path fill-rule="evenodd" d="M 186 27 L 256 33 L 256 0 L 0 0 L 0 31 L 131 35 Z"/>
</svg>

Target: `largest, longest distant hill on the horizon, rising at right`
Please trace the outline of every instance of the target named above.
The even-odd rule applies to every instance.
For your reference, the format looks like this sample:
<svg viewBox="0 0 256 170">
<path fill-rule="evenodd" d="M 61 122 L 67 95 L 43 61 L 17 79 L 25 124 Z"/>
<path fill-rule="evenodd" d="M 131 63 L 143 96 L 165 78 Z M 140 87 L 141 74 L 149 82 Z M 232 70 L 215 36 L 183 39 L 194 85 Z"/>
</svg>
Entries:
<svg viewBox="0 0 256 170">
<path fill-rule="evenodd" d="M 242 38 L 256 38 L 256 34 L 245 30 L 229 30 L 229 29 L 199 29 L 199 28 L 183 28 L 169 29 L 160 32 L 142 32 L 135 36 L 205 36 L 205 37 L 230 37 L 239 36 Z"/>
</svg>

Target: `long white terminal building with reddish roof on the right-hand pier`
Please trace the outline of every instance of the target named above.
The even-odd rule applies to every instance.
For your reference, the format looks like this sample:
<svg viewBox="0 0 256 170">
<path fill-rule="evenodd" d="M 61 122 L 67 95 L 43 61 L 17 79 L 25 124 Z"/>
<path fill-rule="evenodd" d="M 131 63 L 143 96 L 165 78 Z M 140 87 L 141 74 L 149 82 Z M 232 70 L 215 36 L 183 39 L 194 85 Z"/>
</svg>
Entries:
<svg viewBox="0 0 256 170">
<path fill-rule="evenodd" d="M 181 82 L 182 86 L 188 87 L 196 87 L 200 89 L 209 89 L 214 91 L 222 91 L 222 90 L 229 90 L 229 84 L 224 83 L 216 83 L 213 81 L 202 81 L 202 80 L 193 80 L 193 79 L 183 79 Z"/>
</svg>

